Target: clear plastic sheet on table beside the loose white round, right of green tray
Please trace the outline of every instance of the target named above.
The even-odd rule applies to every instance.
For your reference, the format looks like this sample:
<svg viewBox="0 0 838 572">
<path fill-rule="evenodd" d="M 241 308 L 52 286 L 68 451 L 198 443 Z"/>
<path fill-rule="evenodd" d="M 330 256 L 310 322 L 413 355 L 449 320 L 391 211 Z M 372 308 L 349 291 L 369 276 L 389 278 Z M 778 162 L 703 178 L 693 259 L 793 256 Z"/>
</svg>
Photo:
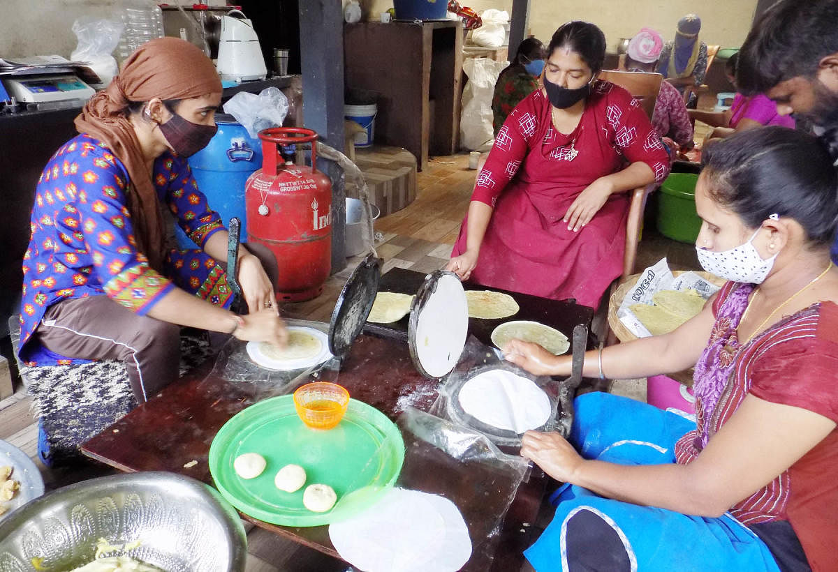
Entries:
<svg viewBox="0 0 838 572">
<path fill-rule="evenodd" d="M 529 478 L 529 463 L 500 451 L 478 431 L 412 407 L 396 425 L 406 450 L 396 486 L 438 494 L 457 505 L 472 541 L 468 568 L 490 569 L 504 517 Z"/>
</svg>

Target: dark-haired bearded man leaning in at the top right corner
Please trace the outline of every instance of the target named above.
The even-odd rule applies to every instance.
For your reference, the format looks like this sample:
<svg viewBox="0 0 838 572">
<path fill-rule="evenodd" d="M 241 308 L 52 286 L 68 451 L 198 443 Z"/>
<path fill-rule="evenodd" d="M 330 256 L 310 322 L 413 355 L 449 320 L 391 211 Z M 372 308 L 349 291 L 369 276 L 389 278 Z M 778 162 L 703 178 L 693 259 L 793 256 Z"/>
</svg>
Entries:
<svg viewBox="0 0 838 572">
<path fill-rule="evenodd" d="M 768 95 L 780 115 L 794 113 L 838 156 L 838 0 L 780 0 L 768 8 L 739 51 L 737 87 Z M 838 264 L 838 240 L 831 252 Z"/>
</svg>

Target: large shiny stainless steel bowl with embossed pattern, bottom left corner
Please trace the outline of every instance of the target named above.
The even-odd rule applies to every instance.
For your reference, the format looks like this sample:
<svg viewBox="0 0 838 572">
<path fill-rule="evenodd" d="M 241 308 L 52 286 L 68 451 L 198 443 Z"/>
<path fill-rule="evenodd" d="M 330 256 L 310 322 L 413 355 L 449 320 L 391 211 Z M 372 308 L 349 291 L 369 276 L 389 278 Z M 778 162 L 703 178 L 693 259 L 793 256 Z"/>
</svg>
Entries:
<svg viewBox="0 0 838 572">
<path fill-rule="evenodd" d="M 101 477 L 60 488 L 0 523 L 0 572 L 70 570 L 91 562 L 96 542 L 167 572 L 241 572 L 247 540 L 214 488 L 170 472 Z"/>
</svg>

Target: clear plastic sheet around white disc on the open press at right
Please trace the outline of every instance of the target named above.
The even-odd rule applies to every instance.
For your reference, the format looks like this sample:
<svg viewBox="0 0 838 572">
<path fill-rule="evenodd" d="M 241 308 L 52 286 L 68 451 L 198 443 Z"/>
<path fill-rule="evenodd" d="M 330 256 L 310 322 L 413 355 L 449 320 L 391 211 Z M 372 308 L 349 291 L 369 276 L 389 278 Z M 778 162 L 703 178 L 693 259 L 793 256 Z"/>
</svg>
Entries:
<svg viewBox="0 0 838 572">
<path fill-rule="evenodd" d="M 567 389 L 563 384 L 550 377 L 535 376 L 526 372 L 514 363 L 504 360 L 498 349 L 489 348 L 489 346 L 479 342 L 473 336 L 468 337 L 466 346 L 463 348 L 463 353 L 460 356 L 460 361 L 451 374 L 448 374 L 444 384 L 440 387 L 439 398 L 432 406 L 431 413 L 484 433 L 496 445 L 520 447 L 522 434 L 516 434 L 512 430 L 502 430 L 491 425 L 485 425 L 465 413 L 459 405 L 458 393 L 463 387 L 463 384 L 474 376 L 492 369 L 500 369 L 515 375 L 520 375 L 526 379 L 531 379 L 544 390 L 547 399 L 550 400 L 551 413 L 545 425 L 536 429 L 541 431 L 559 430 L 566 435 L 564 427 L 567 425 L 567 429 L 569 430 L 569 422 L 565 423 L 562 419 L 566 416 L 569 399 Z"/>
</svg>

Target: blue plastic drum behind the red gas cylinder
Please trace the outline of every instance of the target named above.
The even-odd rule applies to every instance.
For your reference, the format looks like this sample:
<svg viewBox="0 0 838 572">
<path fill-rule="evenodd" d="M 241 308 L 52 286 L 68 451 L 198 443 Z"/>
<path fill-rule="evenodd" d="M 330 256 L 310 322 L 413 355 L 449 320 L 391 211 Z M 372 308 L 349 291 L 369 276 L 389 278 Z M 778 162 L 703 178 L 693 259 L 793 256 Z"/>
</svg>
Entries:
<svg viewBox="0 0 838 572">
<path fill-rule="evenodd" d="M 233 116 L 216 114 L 215 123 L 218 132 L 209 145 L 189 157 L 189 167 L 199 190 L 206 195 L 209 208 L 220 214 L 224 225 L 233 217 L 241 219 L 241 241 L 245 242 L 245 183 L 261 168 L 261 142 L 248 135 Z M 177 225 L 174 234 L 178 247 L 198 248 Z"/>
</svg>

